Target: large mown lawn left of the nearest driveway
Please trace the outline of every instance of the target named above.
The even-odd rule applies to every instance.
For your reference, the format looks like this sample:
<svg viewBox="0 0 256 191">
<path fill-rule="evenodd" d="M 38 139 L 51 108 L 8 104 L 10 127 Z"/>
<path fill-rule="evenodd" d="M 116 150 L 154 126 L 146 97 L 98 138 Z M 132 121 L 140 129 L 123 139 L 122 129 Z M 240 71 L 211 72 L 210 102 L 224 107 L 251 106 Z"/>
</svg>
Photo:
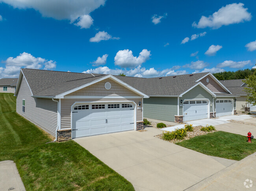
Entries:
<svg viewBox="0 0 256 191">
<path fill-rule="evenodd" d="M 0 161 L 13 160 L 26 191 L 134 190 L 121 175 L 70 140 L 52 137 L 16 113 L 16 97 L 0 93 Z"/>
</svg>

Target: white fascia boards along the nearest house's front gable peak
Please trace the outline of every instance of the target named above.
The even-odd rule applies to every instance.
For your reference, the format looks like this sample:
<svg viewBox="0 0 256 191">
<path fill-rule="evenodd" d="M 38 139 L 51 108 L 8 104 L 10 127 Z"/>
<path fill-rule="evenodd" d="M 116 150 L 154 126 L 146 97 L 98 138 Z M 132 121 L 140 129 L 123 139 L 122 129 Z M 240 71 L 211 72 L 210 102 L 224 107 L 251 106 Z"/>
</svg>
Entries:
<svg viewBox="0 0 256 191">
<path fill-rule="evenodd" d="M 75 91 L 78 91 L 78 90 L 80 90 L 80 89 L 83 89 L 84 87 L 87 87 L 87 86 L 89 86 L 89 85 L 93 85 L 93 84 L 95 84 L 95 83 L 97 83 L 97 82 L 100 82 L 100 81 L 105 80 L 105 79 L 108 79 L 108 78 L 111 78 L 113 81 L 117 82 L 118 84 L 121 84 L 121 85 L 125 86 L 127 89 L 130 89 L 131 91 L 134 91 L 135 93 L 137 93 L 137 94 L 143 96 L 143 98 L 149 98 L 149 96 L 147 96 L 146 94 L 144 94 L 144 93 L 142 93 L 141 91 L 135 89 L 134 87 L 132 87 L 132 86 L 130 86 L 130 85 L 124 83 L 123 81 L 119 80 L 118 78 L 116 78 L 116 77 L 114 77 L 114 76 L 112 76 L 112 75 L 104 76 L 104 77 L 102 77 L 102 78 L 99 78 L 99 79 L 94 80 L 94 81 L 92 81 L 92 82 L 89 82 L 89 83 L 87 83 L 87 84 L 81 85 L 81 86 L 79 86 L 79 87 L 76 87 L 76 88 L 71 89 L 71 90 L 69 90 L 69 91 L 66 91 L 66 92 L 64 92 L 64 93 L 61 93 L 61 94 L 59 94 L 59 95 L 56 95 L 55 98 L 63 98 L 63 96 L 65 96 L 65 95 L 68 95 L 68 94 L 70 94 L 70 93 L 73 93 L 73 92 L 75 92 Z"/>
</svg>

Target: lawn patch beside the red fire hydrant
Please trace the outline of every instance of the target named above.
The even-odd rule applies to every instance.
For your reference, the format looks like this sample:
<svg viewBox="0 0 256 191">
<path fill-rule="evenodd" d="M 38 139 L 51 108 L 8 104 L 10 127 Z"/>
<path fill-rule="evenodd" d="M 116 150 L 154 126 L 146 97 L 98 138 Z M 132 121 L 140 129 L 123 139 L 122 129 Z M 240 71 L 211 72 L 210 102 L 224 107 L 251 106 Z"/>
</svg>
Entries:
<svg viewBox="0 0 256 191">
<path fill-rule="evenodd" d="M 248 143 L 246 140 L 246 136 L 218 131 L 176 144 L 206 155 L 241 160 L 256 152 L 256 140 L 253 139 L 252 143 Z"/>
</svg>

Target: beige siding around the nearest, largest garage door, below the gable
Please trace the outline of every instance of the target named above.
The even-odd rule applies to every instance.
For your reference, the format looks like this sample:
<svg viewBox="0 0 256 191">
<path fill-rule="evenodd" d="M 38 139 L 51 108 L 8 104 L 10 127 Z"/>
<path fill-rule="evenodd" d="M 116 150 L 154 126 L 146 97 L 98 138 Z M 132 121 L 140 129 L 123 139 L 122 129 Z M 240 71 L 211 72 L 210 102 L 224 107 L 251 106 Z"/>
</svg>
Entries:
<svg viewBox="0 0 256 191">
<path fill-rule="evenodd" d="M 134 101 L 135 104 L 142 103 L 142 98 L 136 99 L 61 99 L 61 129 L 71 128 L 71 106 L 74 102 L 95 102 L 95 101 Z M 142 105 L 139 106 L 142 108 Z M 137 108 L 135 108 L 137 109 Z M 137 121 L 142 121 L 142 109 L 137 109 Z"/>
</svg>

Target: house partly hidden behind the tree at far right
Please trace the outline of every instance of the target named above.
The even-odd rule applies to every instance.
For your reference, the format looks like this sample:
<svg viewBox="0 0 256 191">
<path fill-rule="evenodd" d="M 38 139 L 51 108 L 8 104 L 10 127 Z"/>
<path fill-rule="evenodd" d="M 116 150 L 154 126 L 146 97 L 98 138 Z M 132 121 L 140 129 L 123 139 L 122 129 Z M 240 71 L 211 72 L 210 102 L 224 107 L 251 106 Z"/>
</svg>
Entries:
<svg viewBox="0 0 256 191">
<path fill-rule="evenodd" d="M 239 80 L 221 80 L 221 83 L 227 87 L 233 94 L 236 94 L 236 111 L 256 111 L 256 106 L 247 103 L 247 93 L 244 87 L 247 85 L 243 82 L 245 79 Z"/>
</svg>

